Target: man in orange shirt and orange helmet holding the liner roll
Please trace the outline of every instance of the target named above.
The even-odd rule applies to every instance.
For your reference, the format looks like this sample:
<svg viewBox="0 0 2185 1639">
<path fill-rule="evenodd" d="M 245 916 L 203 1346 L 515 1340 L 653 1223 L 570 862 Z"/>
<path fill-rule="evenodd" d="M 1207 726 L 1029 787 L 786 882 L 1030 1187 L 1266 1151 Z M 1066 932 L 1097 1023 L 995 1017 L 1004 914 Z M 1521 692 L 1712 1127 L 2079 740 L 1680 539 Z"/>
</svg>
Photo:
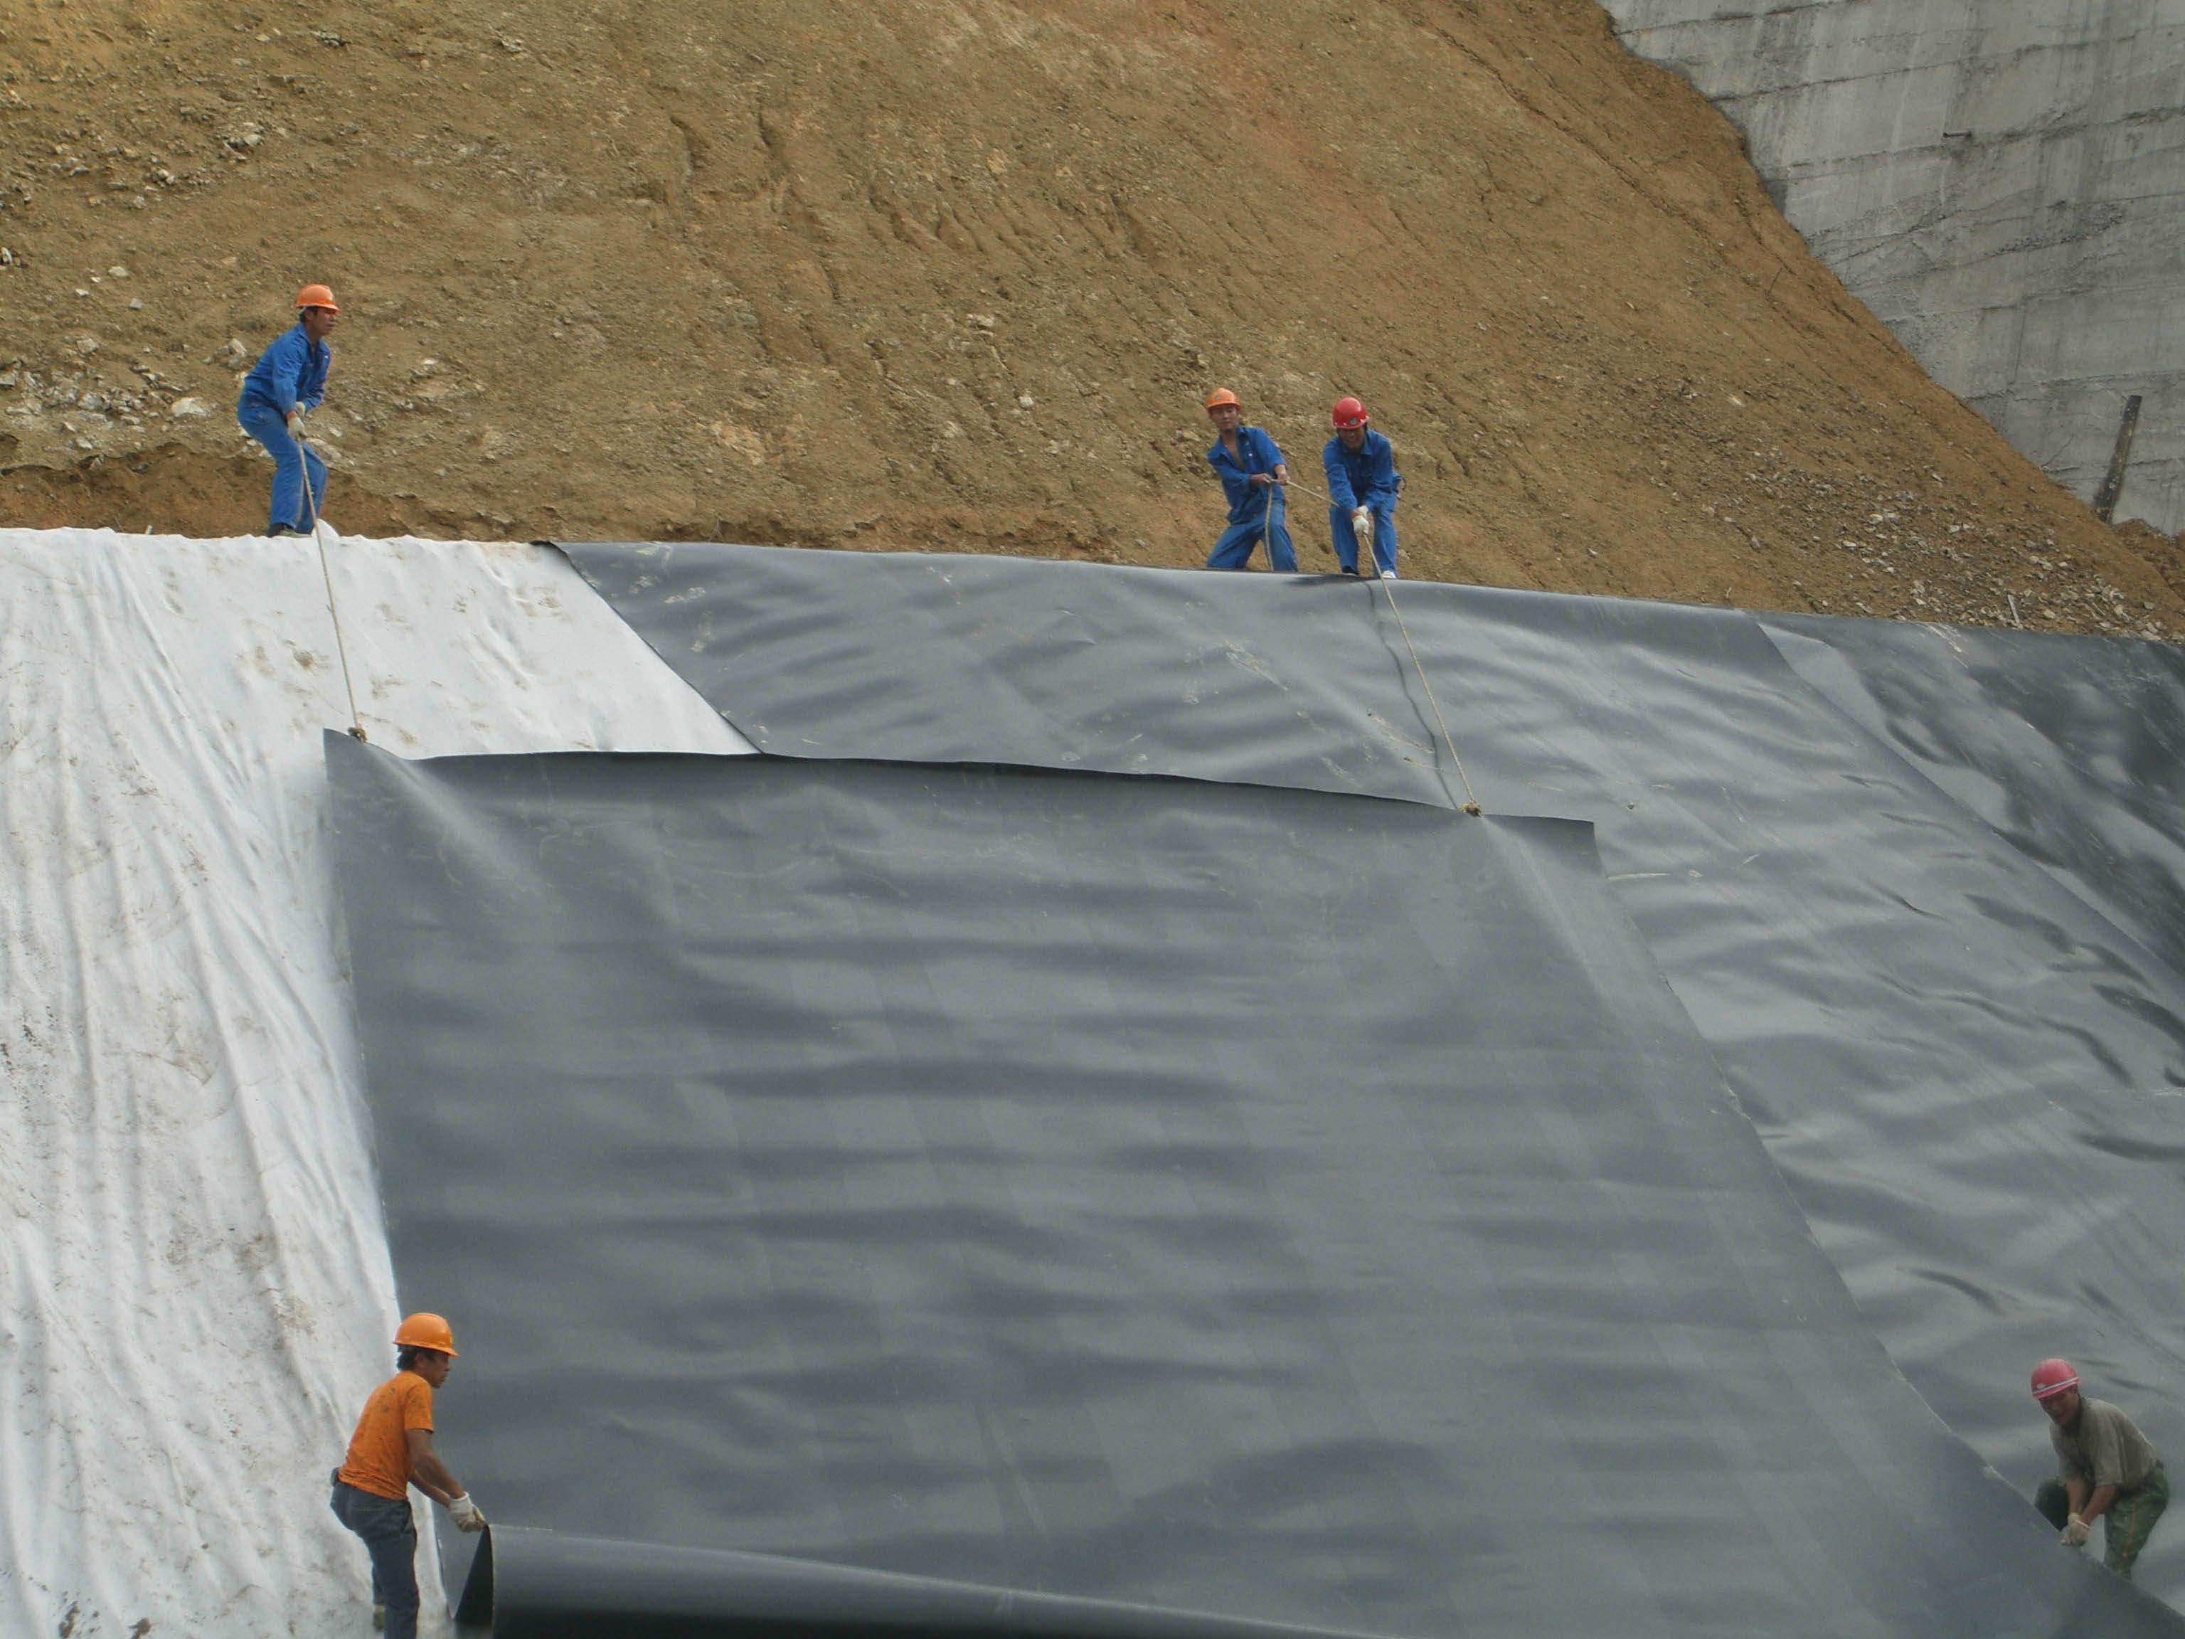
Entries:
<svg viewBox="0 0 2185 1639">
<path fill-rule="evenodd" d="M 371 1626 L 417 1639 L 417 1523 L 409 1488 L 446 1504 L 457 1530 L 485 1530 L 485 1514 L 433 1451 L 433 1390 L 448 1381 L 454 1333 L 439 1316 L 411 1316 L 395 1331 L 395 1375 L 371 1390 L 334 1469 L 334 1519 L 371 1552 Z"/>
</svg>

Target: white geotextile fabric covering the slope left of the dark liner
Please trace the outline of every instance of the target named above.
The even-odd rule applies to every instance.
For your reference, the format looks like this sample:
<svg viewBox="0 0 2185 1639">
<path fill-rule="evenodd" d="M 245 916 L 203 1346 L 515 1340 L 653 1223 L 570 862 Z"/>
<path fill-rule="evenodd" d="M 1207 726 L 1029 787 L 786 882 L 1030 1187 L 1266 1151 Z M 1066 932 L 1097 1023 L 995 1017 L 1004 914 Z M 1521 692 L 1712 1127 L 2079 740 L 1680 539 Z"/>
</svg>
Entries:
<svg viewBox="0 0 2185 1639">
<path fill-rule="evenodd" d="M 326 535 L 371 743 L 749 750 L 559 553 Z M 347 721 L 310 540 L 0 529 L 4 1635 L 369 1632 L 326 1508 L 395 1322 Z M 420 1578 L 444 1632 L 428 1534 Z"/>
</svg>

